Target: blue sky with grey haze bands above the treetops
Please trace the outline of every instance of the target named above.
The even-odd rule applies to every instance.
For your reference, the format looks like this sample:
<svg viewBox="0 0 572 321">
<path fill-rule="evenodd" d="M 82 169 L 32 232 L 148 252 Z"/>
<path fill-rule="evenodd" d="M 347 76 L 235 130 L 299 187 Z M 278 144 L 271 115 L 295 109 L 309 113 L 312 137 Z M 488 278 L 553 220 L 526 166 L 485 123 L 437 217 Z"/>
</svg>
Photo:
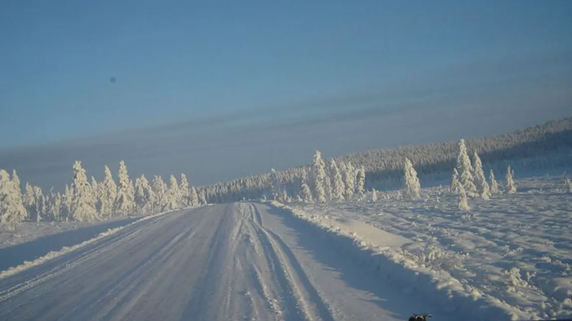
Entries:
<svg viewBox="0 0 572 321">
<path fill-rule="evenodd" d="M 0 168 L 61 185 L 73 159 L 96 176 L 126 159 L 206 184 L 570 116 L 570 17 L 570 1 L 5 0 Z"/>
</svg>

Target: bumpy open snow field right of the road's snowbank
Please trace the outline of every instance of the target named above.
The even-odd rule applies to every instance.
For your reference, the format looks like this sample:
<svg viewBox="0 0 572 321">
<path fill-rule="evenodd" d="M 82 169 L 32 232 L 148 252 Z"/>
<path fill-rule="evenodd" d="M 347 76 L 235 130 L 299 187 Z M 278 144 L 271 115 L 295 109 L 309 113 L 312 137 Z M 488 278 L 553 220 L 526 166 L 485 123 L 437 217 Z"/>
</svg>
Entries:
<svg viewBox="0 0 572 321">
<path fill-rule="evenodd" d="M 361 202 L 291 206 L 371 255 L 429 276 L 402 280 L 404 291 L 426 295 L 444 288 L 452 296 L 440 304 L 466 297 L 484 299 L 514 318 L 570 318 L 572 194 L 563 181 L 517 180 L 515 194 L 471 198 L 470 210 L 459 210 L 458 196 L 442 187 L 422 189 L 416 201 L 398 191 L 378 193 L 375 202 L 370 193 Z"/>
</svg>

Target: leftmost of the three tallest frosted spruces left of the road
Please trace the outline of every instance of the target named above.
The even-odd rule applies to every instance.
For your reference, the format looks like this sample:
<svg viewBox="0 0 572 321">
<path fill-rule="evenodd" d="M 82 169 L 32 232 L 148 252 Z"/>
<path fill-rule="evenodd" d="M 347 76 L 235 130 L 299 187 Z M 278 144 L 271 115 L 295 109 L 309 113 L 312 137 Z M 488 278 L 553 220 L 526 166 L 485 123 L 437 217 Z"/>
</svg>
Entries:
<svg viewBox="0 0 572 321">
<path fill-rule="evenodd" d="M 70 218 L 76 221 L 91 222 L 97 220 L 96 199 L 93 197 L 92 186 L 89 185 L 85 169 L 81 161 L 73 164 L 72 204 Z"/>
</svg>

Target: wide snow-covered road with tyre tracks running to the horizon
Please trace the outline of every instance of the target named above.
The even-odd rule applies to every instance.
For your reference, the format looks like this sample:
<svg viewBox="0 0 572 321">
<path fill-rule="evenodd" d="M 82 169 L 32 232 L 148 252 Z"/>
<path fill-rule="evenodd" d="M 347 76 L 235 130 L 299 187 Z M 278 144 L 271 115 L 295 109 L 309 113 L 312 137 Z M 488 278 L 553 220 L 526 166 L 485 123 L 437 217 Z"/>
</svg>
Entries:
<svg viewBox="0 0 572 321">
<path fill-rule="evenodd" d="M 283 210 L 214 205 L 2 279 L 0 320 L 407 320 L 430 310 L 380 280 Z"/>
</svg>

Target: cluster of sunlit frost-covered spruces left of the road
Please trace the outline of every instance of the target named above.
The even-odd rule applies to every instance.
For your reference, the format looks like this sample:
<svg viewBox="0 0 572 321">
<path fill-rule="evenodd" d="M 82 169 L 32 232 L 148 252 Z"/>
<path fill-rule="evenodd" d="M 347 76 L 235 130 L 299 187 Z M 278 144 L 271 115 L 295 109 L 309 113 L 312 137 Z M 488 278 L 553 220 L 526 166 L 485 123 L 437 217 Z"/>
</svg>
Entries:
<svg viewBox="0 0 572 321">
<path fill-rule="evenodd" d="M 206 204 L 205 191 L 190 186 L 185 174 L 180 181 L 173 175 L 166 184 L 155 175 L 149 182 L 145 175 L 135 182 L 129 178 L 124 161 L 119 164 L 117 179 L 108 166 L 104 181 L 88 180 L 81 161 L 73 164 L 72 184 L 62 193 L 43 194 L 42 189 L 26 183 L 24 192 L 16 170 L 12 175 L 0 169 L 0 217 L 2 225 L 15 231 L 22 221 L 98 221 L 132 215 L 145 216 Z"/>
</svg>

